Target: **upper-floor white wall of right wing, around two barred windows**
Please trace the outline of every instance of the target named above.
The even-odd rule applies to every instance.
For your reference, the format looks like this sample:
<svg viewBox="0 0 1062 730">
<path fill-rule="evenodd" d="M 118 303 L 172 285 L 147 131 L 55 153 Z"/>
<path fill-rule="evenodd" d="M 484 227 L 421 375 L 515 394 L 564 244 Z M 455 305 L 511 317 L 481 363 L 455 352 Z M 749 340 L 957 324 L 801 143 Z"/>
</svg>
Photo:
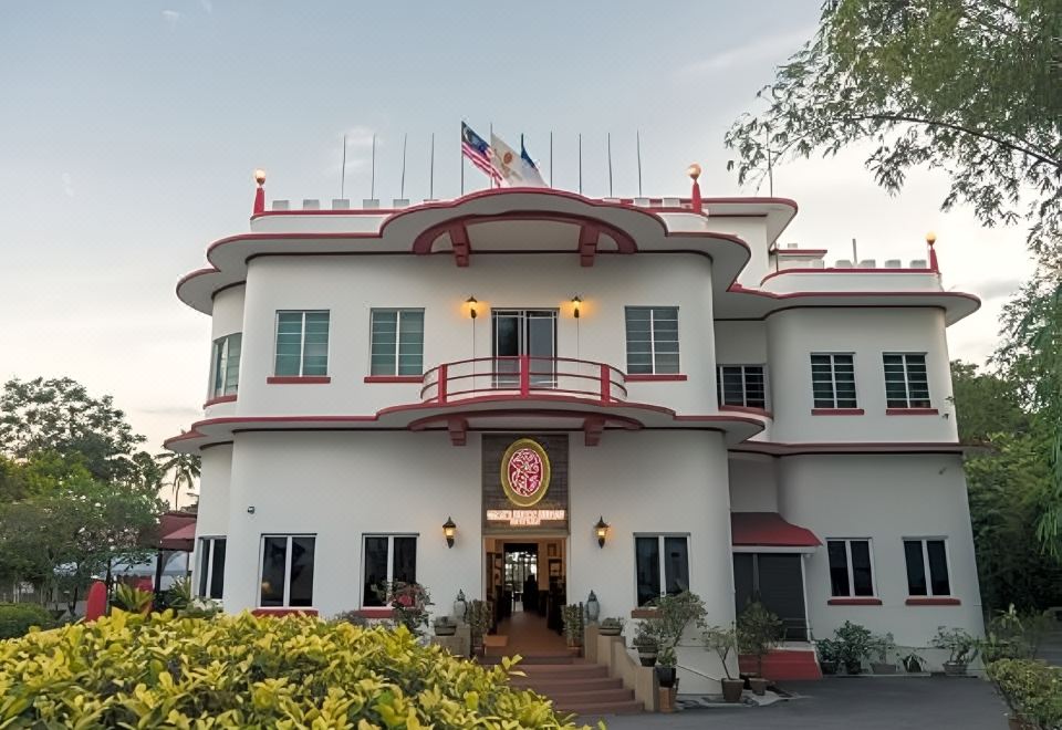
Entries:
<svg viewBox="0 0 1062 730">
<path fill-rule="evenodd" d="M 771 437 L 808 441 L 956 441 L 944 312 L 937 309 L 793 309 L 767 320 Z M 811 353 L 854 353 L 863 416 L 813 416 Z M 936 415 L 885 415 L 882 353 L 925 353 Z"/>
</svg>

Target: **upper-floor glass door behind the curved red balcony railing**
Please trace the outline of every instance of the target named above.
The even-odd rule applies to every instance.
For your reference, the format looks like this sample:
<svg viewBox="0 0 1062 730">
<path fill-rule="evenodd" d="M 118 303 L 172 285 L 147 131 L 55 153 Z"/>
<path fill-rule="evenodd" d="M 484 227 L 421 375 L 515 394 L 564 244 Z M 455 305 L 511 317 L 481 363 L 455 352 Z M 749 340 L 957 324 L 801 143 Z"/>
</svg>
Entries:
<svg viewBox="0 0 1062 730">
<path fill-rule="evenodd" d="M 529 357 L 531 387 L 556 386 L 556 311 L 493 310 L 494 387 L 520 386 L 520 357 Z"/>
</svg>

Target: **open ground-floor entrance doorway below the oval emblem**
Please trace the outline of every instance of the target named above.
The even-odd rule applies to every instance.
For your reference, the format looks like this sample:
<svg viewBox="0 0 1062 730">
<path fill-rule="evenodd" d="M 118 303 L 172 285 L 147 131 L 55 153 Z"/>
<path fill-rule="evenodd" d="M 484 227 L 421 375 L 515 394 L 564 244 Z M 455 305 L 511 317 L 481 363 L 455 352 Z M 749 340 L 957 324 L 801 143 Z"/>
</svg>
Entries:
<svg viewBox="0 0 1062 730">
<path fill-rule="evenodd" d="M 487 599 L 496 637 L 488 654 L 552 656 L 566 650 L 561 607 L 566 603 L 562 538 L 488 538 Z"/>
</svg>

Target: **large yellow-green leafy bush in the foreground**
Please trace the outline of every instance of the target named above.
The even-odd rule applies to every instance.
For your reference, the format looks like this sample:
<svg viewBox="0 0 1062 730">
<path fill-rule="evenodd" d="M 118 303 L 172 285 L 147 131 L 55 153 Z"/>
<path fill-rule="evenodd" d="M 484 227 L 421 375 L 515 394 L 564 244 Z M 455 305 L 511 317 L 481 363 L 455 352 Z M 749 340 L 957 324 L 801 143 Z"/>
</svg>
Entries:
<svg viewBox="0 0 1062 730">
<path fill-rule="evenodd" d="M 0 728 L 574 728 L 404 628 L 115 612 L 0 642 Z"/>
</svg>

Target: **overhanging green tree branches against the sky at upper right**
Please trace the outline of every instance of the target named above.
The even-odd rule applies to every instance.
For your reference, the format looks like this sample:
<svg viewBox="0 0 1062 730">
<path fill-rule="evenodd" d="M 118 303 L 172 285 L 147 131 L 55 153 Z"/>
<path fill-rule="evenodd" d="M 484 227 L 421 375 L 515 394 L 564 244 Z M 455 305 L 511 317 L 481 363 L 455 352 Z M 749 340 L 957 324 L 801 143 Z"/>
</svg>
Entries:
<svg viewBox="0 0 1062 730">
<path fill-rule="evenodd" d="M 819 31 L 759 96 L 767 111 L 726 135 L 741 182 L 769 163 L 871 146 L 874 179 L 944 170 L 948 209 L 986 226 L 1030 223 L 1060 255 L 1062 3 L 1059 0 L 826 0 Z"/>
</svg>

